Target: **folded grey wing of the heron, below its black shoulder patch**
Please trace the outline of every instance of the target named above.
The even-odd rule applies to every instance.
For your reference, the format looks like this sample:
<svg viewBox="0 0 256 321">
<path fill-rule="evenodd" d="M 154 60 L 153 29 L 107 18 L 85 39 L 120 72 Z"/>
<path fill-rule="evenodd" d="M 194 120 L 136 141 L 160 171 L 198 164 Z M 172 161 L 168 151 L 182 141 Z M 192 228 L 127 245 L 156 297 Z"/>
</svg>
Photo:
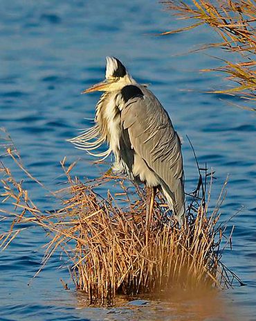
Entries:
<svg viewBox="0 0 256 321">
<path fill-rule="evenodd" d="M 134 151 L 158 175 L 172 198 L 174 214 L 184 214 L 183 159 L 181 141 L 167 112 L 147 89 L 144 96 L 132 98 L 121 112 L 121 122 L 128 131 Z"/>
</svg>

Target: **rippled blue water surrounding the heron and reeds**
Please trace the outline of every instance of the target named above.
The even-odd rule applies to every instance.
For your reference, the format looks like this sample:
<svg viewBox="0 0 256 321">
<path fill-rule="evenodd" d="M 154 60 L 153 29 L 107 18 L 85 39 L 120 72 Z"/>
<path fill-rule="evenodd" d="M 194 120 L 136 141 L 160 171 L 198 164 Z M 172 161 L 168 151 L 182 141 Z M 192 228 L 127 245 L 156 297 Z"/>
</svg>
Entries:
<svg viewBox="0 0 256 321">
<path fill-rule="evenodd" d="M 1 0 L 0 126 L 30 173 L 49 189 L 64 182 L 60 160 L 65 155 L 68 162 L 81 158 L 75 169 L 80 177 L 94 177 L 93 159 L 66 139 L 90 125 L 84 118 L 93 118 L 99 98 L 80 92 L 104 77 L 106 55 L 120 58 L 134 78 L 151 84 L 183 137 L 187 190 L 194 187 L 196 168 L 185 135 L 199 162 L 216 171 L 212 204 L 229 174 L 223 220 L 244 209 L 229 223 L 236 226 L 233 250 L 223 260 L 248 285 L 223 293 L 223 305 L 208 313 L 194 309 L 192 299 L 86 308 L 79 293 L 63 290 L 60 278 L 72 283 L 68 272 L 58 269 L 57 255 L 32 279 L 46 241 L 34 228 L 0 254 L 0 320 L 256 320 L 255 115 L 232 107 L 242 104 L 237 98 L 205 93 L 227 86 L 220 76 L 199 71 L 218 66 L 218 60 L 203 52 L 183 55 L 217 36 L 201 28 L 158 37 L 181 26 L 162 9 L 153 0 Z M 25 184 L 39 207 L 54 207 L 47 192 L 28 180 Z M 1 231 L 6 226 L 1 222 Z"/>
</svg>

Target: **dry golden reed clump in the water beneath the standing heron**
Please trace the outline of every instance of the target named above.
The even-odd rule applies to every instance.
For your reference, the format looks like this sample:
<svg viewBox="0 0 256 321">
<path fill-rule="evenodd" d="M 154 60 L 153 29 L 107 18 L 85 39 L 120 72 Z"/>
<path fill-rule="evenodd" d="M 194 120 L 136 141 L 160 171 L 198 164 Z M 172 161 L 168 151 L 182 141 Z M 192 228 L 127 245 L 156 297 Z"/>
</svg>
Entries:
<svg viewBox="0 0 256 321">
<path fill-rule="evenodd" d="M 7 153 L 28 174 L 19 155 L 10 148 Z M 1 163 L 3 202 L 14 205 L 13 211 L 1 209 L 2 220 L 13 218 L 10 229 L 1 234 L 2 249 L 22 229 L 29 228 L 28 223 L 39 225 L 49 238 L 42 268 L 57 249 L 65 253 L 75 287 L 85 291 L 89 304 L 112 305 L 117 294 L 157 294 L 176 286 L 225 288 L 232 284 L 235 275 L 221 263 L 225 227 L 219 223 L 219 206 L 225 192 L 215 209 L 209 211 L 206 176 L 205 184 L 200 176 L 199 186 L 190 196 L 183 227 L 179 228 L 170 216 L 160 195 L 146 225 L 146 196 L 140 186 L 130 190 L 127 180 L 116 175 L 83 183 L 71 177 L 75 164 L 66 167 L 65 162 L 62 167 L 68 187 L 55 194 L 62 199 L 61 209 L 48 212 L 35 205 L 22 182 L 17 182 Z M 107 182 L 119 186 L 120 192 L 115 196 L 109 192 L 102 198 L 97 189 Z"/>
</svg>

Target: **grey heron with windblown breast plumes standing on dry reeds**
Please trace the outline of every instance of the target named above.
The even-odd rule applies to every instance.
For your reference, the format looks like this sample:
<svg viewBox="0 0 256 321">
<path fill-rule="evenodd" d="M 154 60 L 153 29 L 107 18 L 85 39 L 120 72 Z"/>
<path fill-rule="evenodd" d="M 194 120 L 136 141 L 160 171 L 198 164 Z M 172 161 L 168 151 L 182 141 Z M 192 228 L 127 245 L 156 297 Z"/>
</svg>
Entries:
<svg viewBox="0 0 256 321">
<path fill-rule="evenodd" d="M 106 77 L 82 94 L 103 92 L 96 105 L 95 125 L 70 141 L 90 155 L 115 156 L 113 168 L 163 193 L 174 216 L 185 214 L 181 141 L 156 96 L 140 85 L 117 58 L 107 57 Z M 94 153 L 104 142 L 109 148 Z"/>
</svg>

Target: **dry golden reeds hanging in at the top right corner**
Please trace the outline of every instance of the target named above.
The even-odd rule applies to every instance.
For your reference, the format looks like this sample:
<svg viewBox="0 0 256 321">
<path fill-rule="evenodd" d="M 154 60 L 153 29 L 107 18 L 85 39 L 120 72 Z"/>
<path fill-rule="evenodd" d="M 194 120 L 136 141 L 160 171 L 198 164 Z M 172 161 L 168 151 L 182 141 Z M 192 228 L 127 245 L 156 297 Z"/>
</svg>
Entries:
<svg viewBox="0 0 256 321">
<path fill-rule="evenodd" d="M 238 85 L 230 89 L 215 91 L 223 94 L 239 94 L 242 98 L 255 101 L 256 71 L 256 5 L 250 0 L 192 0 L 189 3 L 180 0 L 162 1 L 179 19 L 193 21 L 189 26 L 174 31 L 167 31 L 169 35 L 181 31 L 188 31 L 203 24 L 210 26 L 219 34 L 221 42 L 206 44 L 202 49 L 211 46 L 220 47 L 231 53 L 241 55 L 240 62 L 223 60 L 225 64 L 217 69 L 204 71 L 221 71 L 228 75 L 228 79 Z M 230 57 L 231 58 L 231 57 Z M 250 110 L 256 111 L 255 107 Z"/>
</svg>

